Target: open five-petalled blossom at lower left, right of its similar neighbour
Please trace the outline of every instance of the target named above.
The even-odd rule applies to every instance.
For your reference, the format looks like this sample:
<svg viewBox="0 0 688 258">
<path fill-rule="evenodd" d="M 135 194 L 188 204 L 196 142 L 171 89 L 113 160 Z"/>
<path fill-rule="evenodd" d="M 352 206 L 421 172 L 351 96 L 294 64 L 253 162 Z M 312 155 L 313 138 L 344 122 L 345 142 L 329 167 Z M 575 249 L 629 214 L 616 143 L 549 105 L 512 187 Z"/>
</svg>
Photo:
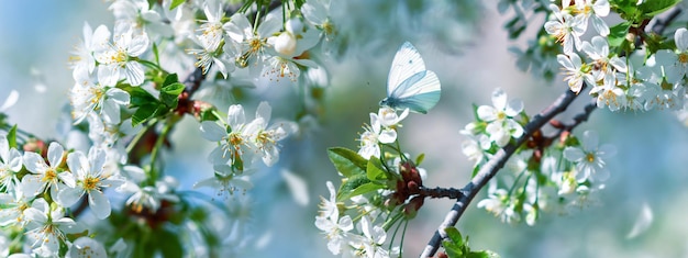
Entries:
<svg viewBox="0 0 688 258">
<path fill-rule="evenodd" d="M 77 183 L 74 188 L 67 188 L 59 193 L 58 200 L 62 200 L 65 206 L 76 203 L 86 193 L 96 217 L 103 220 L 110 216 L 112 207 L 102 192 L 103 188 L 119 187 L 124 183 L 124 179 L 103 172 L 106 158 L 107 153 L 98 147 L 91 147 L 88 156 L 78 150 L 67 156 L 67 166 L 77 176 Z"/>
</svg>

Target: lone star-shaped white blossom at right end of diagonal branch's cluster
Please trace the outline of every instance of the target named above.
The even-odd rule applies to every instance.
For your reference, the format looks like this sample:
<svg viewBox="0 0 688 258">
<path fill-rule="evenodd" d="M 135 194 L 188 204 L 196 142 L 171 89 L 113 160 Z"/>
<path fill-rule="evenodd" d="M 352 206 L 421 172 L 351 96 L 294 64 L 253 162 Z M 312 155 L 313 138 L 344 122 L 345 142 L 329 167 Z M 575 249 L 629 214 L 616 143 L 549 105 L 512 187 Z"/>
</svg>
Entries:
<svg viewBox="0 0 688 258">
<path fill-rule="evenodd" d="M 581 147 L 566 147 L 564 149 L 564 158 L 575 162 L 576 169 L 580 172 L 577 176 L 578 181 L 592 180 L 592 175 L 602 181 L 609 177 L 609 171 L 604 167 L 604 159 L 614 156 L 617 148 L 608 144 L 598 147 L 598 141 L 596 132 L 586 131 L 582 133 Z"/>
</svg>

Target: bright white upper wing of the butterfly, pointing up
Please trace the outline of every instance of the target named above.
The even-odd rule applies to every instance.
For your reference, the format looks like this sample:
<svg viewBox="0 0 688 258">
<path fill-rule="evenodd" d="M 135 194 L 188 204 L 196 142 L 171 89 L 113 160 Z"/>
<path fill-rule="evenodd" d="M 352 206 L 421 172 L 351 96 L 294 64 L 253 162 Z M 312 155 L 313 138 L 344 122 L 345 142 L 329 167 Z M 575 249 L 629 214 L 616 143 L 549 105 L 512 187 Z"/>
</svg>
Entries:
<svg viewBox="0 0 688 258">
<path fill-rule="evenodd" d="M 409 42 L 404 42 L 391 63 L 389 76 L 387 77 L 387 96 L 392 92 L 409 77 L 425 70 L 425 64 L 421 54 Z"/>
</svg>

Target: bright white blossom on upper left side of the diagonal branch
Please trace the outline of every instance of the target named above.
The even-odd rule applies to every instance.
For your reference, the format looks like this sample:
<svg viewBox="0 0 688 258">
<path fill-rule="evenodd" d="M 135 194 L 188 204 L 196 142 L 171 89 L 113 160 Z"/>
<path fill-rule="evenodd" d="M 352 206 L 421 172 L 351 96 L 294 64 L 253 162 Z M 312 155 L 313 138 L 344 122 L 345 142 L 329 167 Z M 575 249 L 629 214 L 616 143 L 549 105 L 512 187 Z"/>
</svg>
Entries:
<svg viewBox="0 0 688 258">
<path fill-rule="evenodd" d="M 486 132 L 490 135 L 490 141 L 498 146 L 506 146 L 511 137 L 521 137 L 523 127 L 514 117 L 523 111 L 523 102 L 514 99 L 507 102 L 507 93 L 502 89 L 492 92 L 492 104 L 478 106 L 478 119 L 488 123 Z"/>
</svg>

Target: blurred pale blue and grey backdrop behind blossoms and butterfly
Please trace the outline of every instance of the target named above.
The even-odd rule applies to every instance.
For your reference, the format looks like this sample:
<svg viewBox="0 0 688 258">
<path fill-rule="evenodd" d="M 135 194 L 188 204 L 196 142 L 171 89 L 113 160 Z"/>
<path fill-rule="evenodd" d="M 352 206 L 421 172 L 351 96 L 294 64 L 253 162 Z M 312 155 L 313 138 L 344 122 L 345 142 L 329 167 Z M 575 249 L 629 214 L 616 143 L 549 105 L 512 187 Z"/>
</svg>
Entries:
<svg viewBox="0 0 688 258">
<path fill-rule="evenodd" d="M 496 1 L 342 2 L 336 15 L 346 19 L 337 25 L 349 37 L 344 57 L 328 60 L 331 86 L 318 125 L 285 142 L 278 166 L 257 172 L 256 187 L 246 195 L 226 200 L 251 203 L 245 218 L 254 234 L 237 247 L 242 256 L 331 257 L 324 236 L 313 225 L 319 195 L 329 194 L 325 181 L 339 186 L 340 180 L 325 150 L 356 149 L 357 133 L 385 97 L 391 59 L 402 42 L 417 46 L 442 82 L 439 105 L 426 115 L 411 114 L 400 131 L 402 146 L 413 156 L 426 155 L 428 187 L 459 188 L 469 180 L 471 162 L 460 152 L 464 138 L 458 131 L 471 122 L 471 104 L 490 104 L 491 92 L 501 87 L 535 114 L 566 89 L 561 78 L 545 81 L 515 67 L 508 47 L 523 47 L 525 41 L 508 40 L 502 27 L 511 14 L 499 14 Z M 85 21 L 92 27 L 112 26 L 108 7 L 109 2 L 89 0 L 0 5 L 0 100 L 11 89 L 20 91 L 20 102 L 8 111 L 11 123 L 42 138 L 59 137 L 58 121 L 74 83 L 68 57 L 82 37 Z M 285 103 L 296 92 L 260 94 L 275 106 L 273 117 L 293 117 L 295 111 Z M 581 96 L 563 119 L 587 102 L 588 97 Z M 255 104 L 249 106 L 247 114 Z M 612 177 L 596 200 L 580 211 L 544 213 L 535 226 L 508 225 L 476 207 L 484 192 L 457 225 L 470 237 L 471 248 L 491 249 L 502 257 L 688 257 L 688 134 L 683 123 L 668 111 L 598 110 L 575 133 L 585 130 L 598 131 L 601 143 L 619 149 L 608 162 Z M 182 179 L 181 190 L 189 190 L 198 179 L 212 175 L 206 161 L 212 145 L 199 141 L 198 124 L 190 119 L 173 137 L 169 172 Z M 304 180 L 308 200 L 293 198 L 284 177 L 287 170 Z M 408 229 L 408 257 L 421 253 L 452 204 L 425 202 Z M 654 220 L 637 236 L 628 237 L 644 206 Z"/>
</svg>

